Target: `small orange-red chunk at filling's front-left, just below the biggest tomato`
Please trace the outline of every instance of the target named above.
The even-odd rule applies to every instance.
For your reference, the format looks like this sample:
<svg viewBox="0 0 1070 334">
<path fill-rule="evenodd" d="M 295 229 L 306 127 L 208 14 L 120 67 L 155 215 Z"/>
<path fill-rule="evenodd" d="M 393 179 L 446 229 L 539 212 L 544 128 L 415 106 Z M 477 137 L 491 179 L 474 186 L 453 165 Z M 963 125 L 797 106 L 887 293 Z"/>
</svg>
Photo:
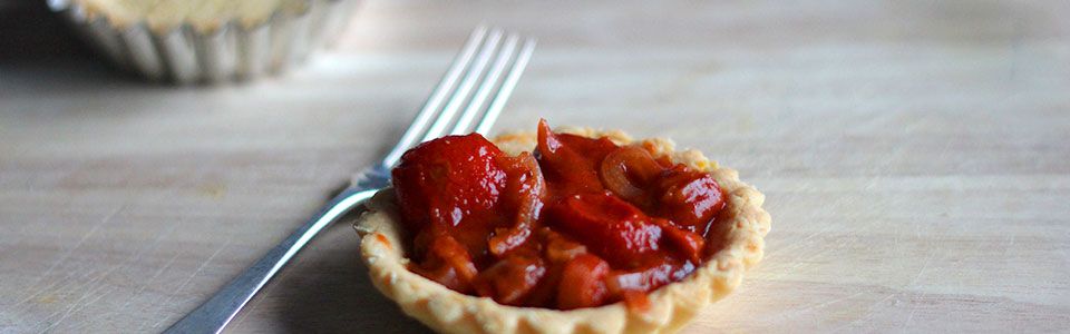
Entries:
<svg viewBox="0 0 1070 334">
<path fill-rule="evenodd" d="M 424 259 L 410 266 L 410 269 L 451 289 L 470 292 L 471 281 L 479 272 L 471 262 L 468 249 L 444 233 L 422 234 L 428 240 Z"/>
</svg>

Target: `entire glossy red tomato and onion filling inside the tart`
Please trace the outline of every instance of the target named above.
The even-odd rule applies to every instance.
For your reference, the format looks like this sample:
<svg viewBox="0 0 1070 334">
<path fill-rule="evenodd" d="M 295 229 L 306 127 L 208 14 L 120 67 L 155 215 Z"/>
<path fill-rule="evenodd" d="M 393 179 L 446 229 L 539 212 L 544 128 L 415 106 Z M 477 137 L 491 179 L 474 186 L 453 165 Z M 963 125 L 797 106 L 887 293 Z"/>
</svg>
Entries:
<svg viewBox="0 0 1070 334">
<path fill-rule="evenodd" d="M 711 253 L 706 235 L 724 206 L 708 174 L 545 121 L 534 155 L 449 136 L 409 150 L 392 174 L 409 268 L 517 306 L 643 308 Z"/>
</svg>

